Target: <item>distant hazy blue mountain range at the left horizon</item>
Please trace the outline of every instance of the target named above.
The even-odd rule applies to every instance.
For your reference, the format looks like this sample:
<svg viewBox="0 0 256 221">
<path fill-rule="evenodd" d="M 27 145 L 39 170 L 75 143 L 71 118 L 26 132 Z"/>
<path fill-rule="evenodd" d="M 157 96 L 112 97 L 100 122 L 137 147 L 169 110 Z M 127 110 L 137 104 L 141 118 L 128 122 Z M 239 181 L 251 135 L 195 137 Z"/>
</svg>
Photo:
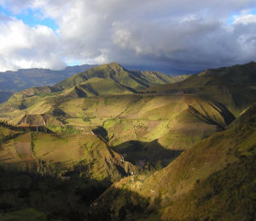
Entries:
<svg viewBox="0 0 256 221">
<path fill-rule="evenodd" d="M 20 69 L 18 71 L 0 72 L 0 103 L 3 103 L 15 92 L 26 88 L 53 85 L 56 82 L 86 71 L 96 65 L 68 66 L 61 71 L 42 68 Z"/>
</svg>

